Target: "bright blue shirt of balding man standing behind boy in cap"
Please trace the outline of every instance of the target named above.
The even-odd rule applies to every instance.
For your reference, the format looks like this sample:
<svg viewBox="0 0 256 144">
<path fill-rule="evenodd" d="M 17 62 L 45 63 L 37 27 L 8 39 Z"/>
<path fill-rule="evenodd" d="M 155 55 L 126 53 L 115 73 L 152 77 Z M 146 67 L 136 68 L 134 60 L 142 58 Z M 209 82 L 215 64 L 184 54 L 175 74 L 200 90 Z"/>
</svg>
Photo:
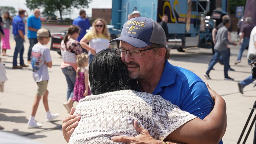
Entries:
<svg viewBox="0 0 256 144">
<path fill-rule="evenodd" d="M 30 15 L 27 18 L 27 27 L 33 27 L 33 28 L 39 30 L 41 28 L 41 26 L 42 26 L 42 24 L 41 24 L 40 18 L 36 18 L 34 15 Z M 27 37 L 28 38 L 37 38 L 37 32 L 27 29 Z"/>
</svg>

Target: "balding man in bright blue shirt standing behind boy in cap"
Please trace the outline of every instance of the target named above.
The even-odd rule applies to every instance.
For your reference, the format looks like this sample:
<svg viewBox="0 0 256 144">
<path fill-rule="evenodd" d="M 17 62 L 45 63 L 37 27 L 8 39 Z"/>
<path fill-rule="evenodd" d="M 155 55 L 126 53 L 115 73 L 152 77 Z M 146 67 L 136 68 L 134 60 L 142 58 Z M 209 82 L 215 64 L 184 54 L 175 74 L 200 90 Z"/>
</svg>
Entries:
<svg viewBox="0 0 256 144">
<path fill-rule="evenodd" d="M 40 10 L 38 8 L 36 8 L 34 10 L 34 15 L 31 15 L 27 18 L 27 37 L 29 40 L 29 49 L 27 52 L 27 62 L 30 62 L 30 56 L 31 56 L 31 51 L 32 51 L 32 47 L 38 42 L 37 41 L 37 30 L 39 30 L 42 26 L 41 24 L 41 20 L 39 18 L 40 16 Z"/>
</svg>

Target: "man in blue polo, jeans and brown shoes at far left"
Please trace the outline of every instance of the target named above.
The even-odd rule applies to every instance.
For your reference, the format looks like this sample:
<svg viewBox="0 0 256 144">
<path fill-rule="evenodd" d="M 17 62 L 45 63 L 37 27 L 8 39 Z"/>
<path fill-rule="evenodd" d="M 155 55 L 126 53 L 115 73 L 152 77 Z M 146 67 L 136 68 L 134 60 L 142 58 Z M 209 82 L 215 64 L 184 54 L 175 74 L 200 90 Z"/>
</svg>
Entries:
<svg viewBox="0 0 256 144">
<path fill-rule="evenodd" d="M 24 35 L 25 35 L 25 24 L 22 18 L 25 15 L 24 9 L 19 9 L 19 15 L 13 18 L 12 20 L 12 34 L 14 35 L 14 40 L 16 42 L 14 54 L 13 54 L 13 61 L 12 61 L 12 68 L 13 69 L 21 69 L 22 67 L 28 67 L 28 65 L 24 64 L 23 60 L 23 53 L 24 53 Z M 20 66 L 17 65 L 17 57 L 20 53 Z"/>
</svg>

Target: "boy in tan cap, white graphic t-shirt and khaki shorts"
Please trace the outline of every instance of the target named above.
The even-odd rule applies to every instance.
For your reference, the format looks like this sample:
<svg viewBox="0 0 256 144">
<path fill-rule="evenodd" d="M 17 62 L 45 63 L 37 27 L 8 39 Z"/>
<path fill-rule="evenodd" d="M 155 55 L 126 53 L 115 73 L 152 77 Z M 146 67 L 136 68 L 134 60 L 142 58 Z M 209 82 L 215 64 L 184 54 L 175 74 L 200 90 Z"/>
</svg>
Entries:
<svg viewBox="0 0 256 144">
<path fill-rule="evenodd" d="M 40 102 L 41 97 L 43 96 L 43 105 L 46 110 L 46 121 L 53 121 L 59 114 L 51 114 L 48 106 L 48 90 L 47 84 L 49 80 L 48 67 L 52 67 L 52 59 L 50 56 L 50 50 L 45 47 L 50 41 L 50 31 L 41 28 L 37 31 L 37 40 L 38 43 L 35 44 L 31 52 L 31 65 L 33 68 L 33 78 L 37 83 L 37 94 L 32 107 L 32 113 L 27 123 L 27 128 L 39 128 L 42 126 L 41 123 L 35 122 L 35 115 L 37 108 Z"/>
</svg>

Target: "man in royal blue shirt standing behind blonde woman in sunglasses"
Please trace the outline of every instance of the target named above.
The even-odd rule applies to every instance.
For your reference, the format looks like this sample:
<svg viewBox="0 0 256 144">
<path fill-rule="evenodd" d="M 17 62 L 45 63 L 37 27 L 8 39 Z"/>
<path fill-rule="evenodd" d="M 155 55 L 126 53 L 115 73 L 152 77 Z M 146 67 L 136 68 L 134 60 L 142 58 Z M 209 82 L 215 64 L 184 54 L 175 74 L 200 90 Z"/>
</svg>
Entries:
<svg viewBox="0 0 256 144">
<path fill-rule="evenodd" d="M 85 10 L 81 9 L 79 11 L 79 16 L 76 19 L 74 19 L 73 24 L 77 25 L 80 28 L 80 35 L 76 39 L 77 41 L 80 41 L 85 36 L 86 30 L 90 28 L 90 21 L 88 16 L 86 16 Z M 86 50 L 83 49 L 83 52 L 85 51 Z"/>
</svg>

